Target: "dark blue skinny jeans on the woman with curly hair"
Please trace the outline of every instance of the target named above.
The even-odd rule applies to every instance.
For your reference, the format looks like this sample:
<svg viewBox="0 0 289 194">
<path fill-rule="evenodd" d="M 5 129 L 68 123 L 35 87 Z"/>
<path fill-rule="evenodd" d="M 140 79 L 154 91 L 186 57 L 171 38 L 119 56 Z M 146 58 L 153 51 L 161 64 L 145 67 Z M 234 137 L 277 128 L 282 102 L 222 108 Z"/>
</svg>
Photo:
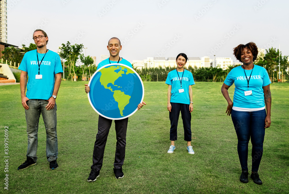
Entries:
<svg viewBox="0 0 289 194">
<path fill-rule="evenodd" d="M 258 171 L 263 154 L 266 110 L 244 112 L 232 110 L 232 121 L 238 137 L 238 155 L 242 171 L 248 171 L 248 143 L 252 143 L 252 171 Z"/>
</svg>

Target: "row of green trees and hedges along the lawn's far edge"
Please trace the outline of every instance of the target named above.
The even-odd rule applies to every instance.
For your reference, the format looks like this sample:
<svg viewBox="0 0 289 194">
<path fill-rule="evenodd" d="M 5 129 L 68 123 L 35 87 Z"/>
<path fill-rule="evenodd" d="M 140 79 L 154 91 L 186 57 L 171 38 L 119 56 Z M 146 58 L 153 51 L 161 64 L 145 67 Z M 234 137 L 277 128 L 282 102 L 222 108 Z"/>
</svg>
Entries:
<svg viewBox="0 0 289 194">
<path fill-rule="evenodd" d="M 37 47 L 35 44 L 30 43 L 29 47 L 22 45 L 22 51 L 18 48 L 7 47 L 2 51 L 4 60 L 12 61 L 13 63 L 21 63 L 24 54 L 30 50 L 35 50 Z M 66 44 L 62 43 L 60 47 L 59 56 L 64 59 L 64 78 L 66 80 L 76 81 L 77 76 L 78 80 L 82 80 L 82 75 L 87 74 L 87 77 L 90 78 L 92 74 L 96 71 L 97 67 L 93 66 L 93 59 L 88 55 L 84 56 L 82 53 L 84 46 L 83 44 L 74 44 L 71 45 L 69 41 Z M 269 48 L 266 50 L 265 55 L 261 55 L 254 62 L 255 65 L 264 67 L 270 78 L 277 78 L 279 72 L 279 59 L 280 59 L 280 71 L 282 74 L 286 75 L 288 78 L 288 56 L 282 56 L 280 52 L 279 58 L 279 49 Z M 133 65 L 133 64 L 132 64 Z M 192 72 L 194 81 L 202 82 L 223 82 L 228 75 L 228 73 L 236 66 L 229 66 L 228 69 L 223 70 L 218 67 L 184 67 L 186 70 Z M 168 75 L 168 72 L 175 69 L 175 67 L 155 67 L 155 68 L 142 68 L 136 69 L 136 72 L 140 75 L 143 81 L 165 81 Z M 279 77 L 278 77 L 279 78 Z"/>
</svg>

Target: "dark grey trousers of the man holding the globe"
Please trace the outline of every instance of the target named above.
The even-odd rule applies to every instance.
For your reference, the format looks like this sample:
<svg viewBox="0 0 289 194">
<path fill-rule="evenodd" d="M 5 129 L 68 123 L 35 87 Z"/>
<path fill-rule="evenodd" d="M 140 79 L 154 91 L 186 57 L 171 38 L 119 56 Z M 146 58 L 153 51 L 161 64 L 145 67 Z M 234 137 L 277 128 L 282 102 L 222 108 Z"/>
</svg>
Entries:
<svg viewBox="0 0 289 194">
<path fill-rule="evenodd" d="M 116 132 L 116 150 L 114 158 L 114 168 L 120 169 L 125 160 L 125 145 L 126 145 L 126 131 L 127 131 L 128 118 L 121 120 L 114 120 Z M 91 169 L 100 171 L 103 162 L 103 154 L 105 149 L 106 140 L 111 127 L 112 120 L 104 118 L 99 115 L 98 118 L 98 132 L 93 149 L 93 157 Z"/>
</svg>

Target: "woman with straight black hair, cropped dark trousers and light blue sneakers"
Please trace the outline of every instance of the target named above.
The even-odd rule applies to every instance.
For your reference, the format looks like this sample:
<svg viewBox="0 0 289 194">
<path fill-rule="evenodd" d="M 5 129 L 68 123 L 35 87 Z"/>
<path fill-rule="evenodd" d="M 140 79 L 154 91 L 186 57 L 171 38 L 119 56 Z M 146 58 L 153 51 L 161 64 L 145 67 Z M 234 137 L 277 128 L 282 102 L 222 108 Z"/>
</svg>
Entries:
<svg viewBox="0 0 289 194">
<path fill-rule="evenodd" d="M 184 140 L 187 141 L 188 153 L 194 154 L 192 149 L 192 132 L 191 132 L 191 112 L 193 111 L 192 102 L 192 85 L 195 84 L 193 75 L 190 71 L 185 70 L 184 66 L 187 63 L 187 55 L 184 53 L 178 54 L 176 58 L 177 68 L 168 73 L 166 84 L 168 84 L 168 105 L 170 111 L 170 140 L 171 146 L 168 153 L 173 153 L 175 150 L 175 140 L 177 140 L 177 126 L 179 114 L 184 125 Z"/>
</svg>

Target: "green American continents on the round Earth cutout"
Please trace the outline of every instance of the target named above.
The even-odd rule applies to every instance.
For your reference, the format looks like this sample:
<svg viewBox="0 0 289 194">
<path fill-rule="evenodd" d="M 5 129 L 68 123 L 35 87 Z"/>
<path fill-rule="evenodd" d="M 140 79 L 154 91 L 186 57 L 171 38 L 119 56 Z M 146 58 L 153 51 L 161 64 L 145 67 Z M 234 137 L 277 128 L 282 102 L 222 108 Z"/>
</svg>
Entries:
<svg viewBox="0 0 289 194">
<path fill-rule="evenodd" d="M 99 78 L 99 81 L 105 89 L 109 89 L 110 91 L 113 92 L 114 100 L 118 103 L 119 112 L 121 116 L 123 116 L 123 110 L 125 109 L 125 106 L 129 103 L 129 99 L 131 98 L 131 96 L 126 95 L 124 92 L 120 90 L 113 91 L 111 87 L 108 87 L 108 84 L 111 83 L 112 85 L 114 85 L 114 82 L 125 73 L 123 71 L 124 69 L 127 69 L 126 74 L 134 74 L 134 71 L 125 67 L 122 67 L 119 72 L 114 71 L 114 69 L 119 69 L 119 68 L 120 66 L 110 66 L 108 68 L 101 69 L 101 76 Z M 110 72 L 109 76 L 105 75 L 107 72 Z M 117 85 L 114 85 L 114 86 L 117 86 Z"/>
</svg>

